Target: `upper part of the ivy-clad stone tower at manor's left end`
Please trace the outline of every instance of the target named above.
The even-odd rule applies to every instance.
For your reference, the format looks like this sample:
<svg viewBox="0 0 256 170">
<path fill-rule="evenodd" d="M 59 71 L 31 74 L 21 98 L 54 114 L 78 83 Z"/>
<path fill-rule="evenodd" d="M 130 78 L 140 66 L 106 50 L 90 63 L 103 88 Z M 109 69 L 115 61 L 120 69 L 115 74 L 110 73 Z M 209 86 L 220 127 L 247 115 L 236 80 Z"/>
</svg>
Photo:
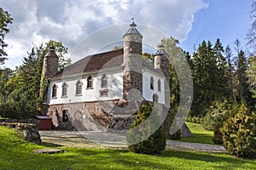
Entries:
<svg viewBox="0 0 256 170">
<path fill-rule="evenodd" d="M 55 48 L 49 47 L 49 52 L 44 56 L 42 76 L 50 78 L 58 71 L 59 58 L 55 54 Z"/>
</svg>

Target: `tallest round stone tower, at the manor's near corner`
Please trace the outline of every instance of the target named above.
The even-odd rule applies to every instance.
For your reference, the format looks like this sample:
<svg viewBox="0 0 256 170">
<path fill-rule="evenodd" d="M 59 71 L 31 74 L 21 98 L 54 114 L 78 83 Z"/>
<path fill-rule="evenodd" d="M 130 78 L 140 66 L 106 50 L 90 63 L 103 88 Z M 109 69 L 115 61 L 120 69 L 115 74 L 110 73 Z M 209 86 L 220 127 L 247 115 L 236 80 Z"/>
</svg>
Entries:
<svg viewBox="0 0 256 170">
<path fill-rule="evenodd" d="M 124 35 L 124 75 L 123 75 L 123 97 L 141 100 L 143 95 L 143 36 L 137 31 L 134 21 L 130 29 Z M 137 89 L 140 93 L 137 93 Z M 140 99 L 139 99 L 140 98 Z"/>
</svg>

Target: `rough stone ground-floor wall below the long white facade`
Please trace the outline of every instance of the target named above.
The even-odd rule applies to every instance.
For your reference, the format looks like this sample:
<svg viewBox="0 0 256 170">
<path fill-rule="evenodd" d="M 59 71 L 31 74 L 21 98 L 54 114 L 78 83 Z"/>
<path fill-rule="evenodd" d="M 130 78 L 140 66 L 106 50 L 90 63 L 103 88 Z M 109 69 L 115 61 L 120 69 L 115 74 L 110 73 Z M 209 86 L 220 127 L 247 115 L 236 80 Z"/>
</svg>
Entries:
<svg viewBox="0 0 256 170">
<path fill-rule="evenodd" d="M 54 128 L 76 130 L 107 130 L 113 122 L 109 111 L 118 100 L 49 105 L 45 115 L 50 116 Z M 68 111 L 68 122 L 63 122 L 63 110 Z"/>
</svg>

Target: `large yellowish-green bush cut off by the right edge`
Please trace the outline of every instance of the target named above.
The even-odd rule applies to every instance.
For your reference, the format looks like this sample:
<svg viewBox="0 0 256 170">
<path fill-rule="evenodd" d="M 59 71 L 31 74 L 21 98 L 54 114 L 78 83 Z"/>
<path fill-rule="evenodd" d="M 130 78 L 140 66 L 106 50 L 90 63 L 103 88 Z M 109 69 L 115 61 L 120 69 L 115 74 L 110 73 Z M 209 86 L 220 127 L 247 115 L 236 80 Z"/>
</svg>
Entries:
<svg viewBox="0 0 256 170">
<path fill-rule="evenodd" d="M 234 156 L 256 158 L 256 115 L 246 105 L 235 107 L 221 132 L 224 147 Z"/>
</svg>

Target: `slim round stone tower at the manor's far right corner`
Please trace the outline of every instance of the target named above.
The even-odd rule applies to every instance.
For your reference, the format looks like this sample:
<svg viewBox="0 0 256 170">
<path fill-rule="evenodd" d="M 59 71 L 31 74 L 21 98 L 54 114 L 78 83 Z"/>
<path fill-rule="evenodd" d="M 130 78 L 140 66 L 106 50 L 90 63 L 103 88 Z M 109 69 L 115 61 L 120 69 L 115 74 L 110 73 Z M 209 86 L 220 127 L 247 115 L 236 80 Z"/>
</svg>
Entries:
<svg viewBox="0 0 256 170">
<path fill-rule="evenodd" d="M 166 77 L 165 85 L 165 105 L 170 106 L 170 61 L 169 55 L 166 53 L 164 46 L 158 46 L 158 50 L 154 55 L 154 69 L 160 69 Z"/>
</svg>

